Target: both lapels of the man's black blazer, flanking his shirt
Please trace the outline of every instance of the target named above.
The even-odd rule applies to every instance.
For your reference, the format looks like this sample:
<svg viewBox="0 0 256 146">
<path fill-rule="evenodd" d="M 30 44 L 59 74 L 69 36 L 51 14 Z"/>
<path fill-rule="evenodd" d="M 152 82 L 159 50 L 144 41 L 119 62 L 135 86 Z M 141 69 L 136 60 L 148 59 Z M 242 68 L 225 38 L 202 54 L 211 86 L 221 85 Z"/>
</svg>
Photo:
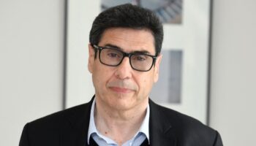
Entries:
<svg viewBox="0 0 256 146">
<path fill-rule="evenodd" d="M 88 146 L 87 134 L 90 121 L 91 105 L 94 96 L 88 104 L 77 107 L 77 110 L 67 110 L 67 125 L 62 132 L 62 145 Z M 149 99 L 149 139 L 150 145 L 176 146 L 177 139 L 173 131 L 171 119 L 165 115 L 165 110 Z"/>
</svg>

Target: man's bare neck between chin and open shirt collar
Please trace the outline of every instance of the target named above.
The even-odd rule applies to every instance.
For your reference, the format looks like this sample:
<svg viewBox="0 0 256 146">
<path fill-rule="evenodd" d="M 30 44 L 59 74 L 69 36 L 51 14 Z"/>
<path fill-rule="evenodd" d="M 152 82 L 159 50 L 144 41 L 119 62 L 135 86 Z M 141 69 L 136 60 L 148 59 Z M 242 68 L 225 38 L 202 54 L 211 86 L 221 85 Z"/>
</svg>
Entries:
<svg viewBox="0 0 256 146">
<path fill-rule="evenodd" d="M 118 145 L 132 139 L 138 132 L 145 116 L 148 106 L 148 99 L 142 104 L 127 110 L 118 110 L 105 106 L 96 98 L 94 119 L 97 130 L 113 139 Z"/>
</svg>

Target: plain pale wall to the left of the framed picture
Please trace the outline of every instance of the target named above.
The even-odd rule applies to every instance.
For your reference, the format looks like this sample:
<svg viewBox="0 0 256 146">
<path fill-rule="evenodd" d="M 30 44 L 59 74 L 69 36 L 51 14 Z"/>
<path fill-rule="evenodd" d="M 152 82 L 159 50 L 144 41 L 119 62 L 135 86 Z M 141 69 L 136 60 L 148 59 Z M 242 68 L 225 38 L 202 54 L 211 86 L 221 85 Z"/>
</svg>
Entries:
<svg viewBox="0 0 256 146">
<path fill-rule="evenodd" d="M 61 110 L 64 1 L 0 1 L 0 145 Z"/>
</svg>

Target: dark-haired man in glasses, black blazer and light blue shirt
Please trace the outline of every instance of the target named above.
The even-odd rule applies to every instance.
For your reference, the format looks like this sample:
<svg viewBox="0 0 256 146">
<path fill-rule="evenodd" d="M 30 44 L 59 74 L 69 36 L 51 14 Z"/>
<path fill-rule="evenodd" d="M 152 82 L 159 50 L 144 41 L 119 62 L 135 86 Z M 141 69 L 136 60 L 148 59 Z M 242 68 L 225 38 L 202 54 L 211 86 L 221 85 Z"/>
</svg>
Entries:
<svg viewBox="0 0 256 146">
<path fill-rule="evenodd" d="M 99 14 L 89 44 L 94 97 L 27 123 L 20 146 L 222 145 L 214 129 L 149 99 L 162 39 L 162 24 L 148 9 L 124 4 Z"/>
</svg>

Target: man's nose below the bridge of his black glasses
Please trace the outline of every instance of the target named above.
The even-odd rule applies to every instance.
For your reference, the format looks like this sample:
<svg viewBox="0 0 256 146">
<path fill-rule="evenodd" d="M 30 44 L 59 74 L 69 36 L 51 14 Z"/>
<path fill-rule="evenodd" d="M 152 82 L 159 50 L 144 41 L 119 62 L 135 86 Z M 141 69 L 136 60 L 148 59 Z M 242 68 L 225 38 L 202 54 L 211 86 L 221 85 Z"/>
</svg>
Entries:
<svg viewBox="0 0 256 146">
<path fill-rule="evenodd" d="M 129 79 L 132 77 L 132 66 L 129 64 L 128 57 L 124 57 L 121 64 L 117 66 L 115 75 L 121 80 Z"/>
</svg>

